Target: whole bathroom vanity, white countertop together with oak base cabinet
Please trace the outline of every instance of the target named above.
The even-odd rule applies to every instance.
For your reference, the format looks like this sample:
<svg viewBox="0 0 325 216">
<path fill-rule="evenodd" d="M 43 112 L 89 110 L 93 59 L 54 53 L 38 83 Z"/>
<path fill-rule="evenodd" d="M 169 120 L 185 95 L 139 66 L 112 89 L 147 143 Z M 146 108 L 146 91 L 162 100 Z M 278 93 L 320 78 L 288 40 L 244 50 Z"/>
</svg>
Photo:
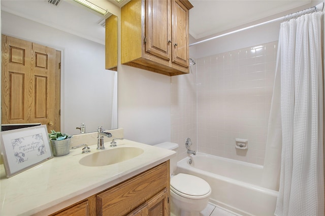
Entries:
<svg viewBox="0 0 325 216">
<path fill-rule="evenodd" d="M 175 152 L 125 139 L 118 140 L 117 147 L 109 147 L 109 142 L 105 146 L 103 151 L 90 146 L 87 154 L 71 150 L 9 179 L 2 164 L 0 214 L 168 215 L 169 160 Z M 88 165 L 79 162 L 113 148 L 143 153 L 109 165 L 93 166 L 98 165 L 93 159 Z"/>
</svg>

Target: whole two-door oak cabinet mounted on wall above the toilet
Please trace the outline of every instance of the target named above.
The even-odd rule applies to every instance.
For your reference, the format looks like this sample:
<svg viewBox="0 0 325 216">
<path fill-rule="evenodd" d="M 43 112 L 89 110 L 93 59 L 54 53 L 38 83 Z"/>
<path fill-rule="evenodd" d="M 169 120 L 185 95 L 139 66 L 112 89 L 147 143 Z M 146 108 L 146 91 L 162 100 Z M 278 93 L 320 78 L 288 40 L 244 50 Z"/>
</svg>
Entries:
<svg viewBox="0 0 325 216">
<path fill-rule="evenodd" d="M 188 11 L 180 0 L 133 0 L 121 8 L 121 63 L 173 76 L 189 72 Z"/>
</svg>

